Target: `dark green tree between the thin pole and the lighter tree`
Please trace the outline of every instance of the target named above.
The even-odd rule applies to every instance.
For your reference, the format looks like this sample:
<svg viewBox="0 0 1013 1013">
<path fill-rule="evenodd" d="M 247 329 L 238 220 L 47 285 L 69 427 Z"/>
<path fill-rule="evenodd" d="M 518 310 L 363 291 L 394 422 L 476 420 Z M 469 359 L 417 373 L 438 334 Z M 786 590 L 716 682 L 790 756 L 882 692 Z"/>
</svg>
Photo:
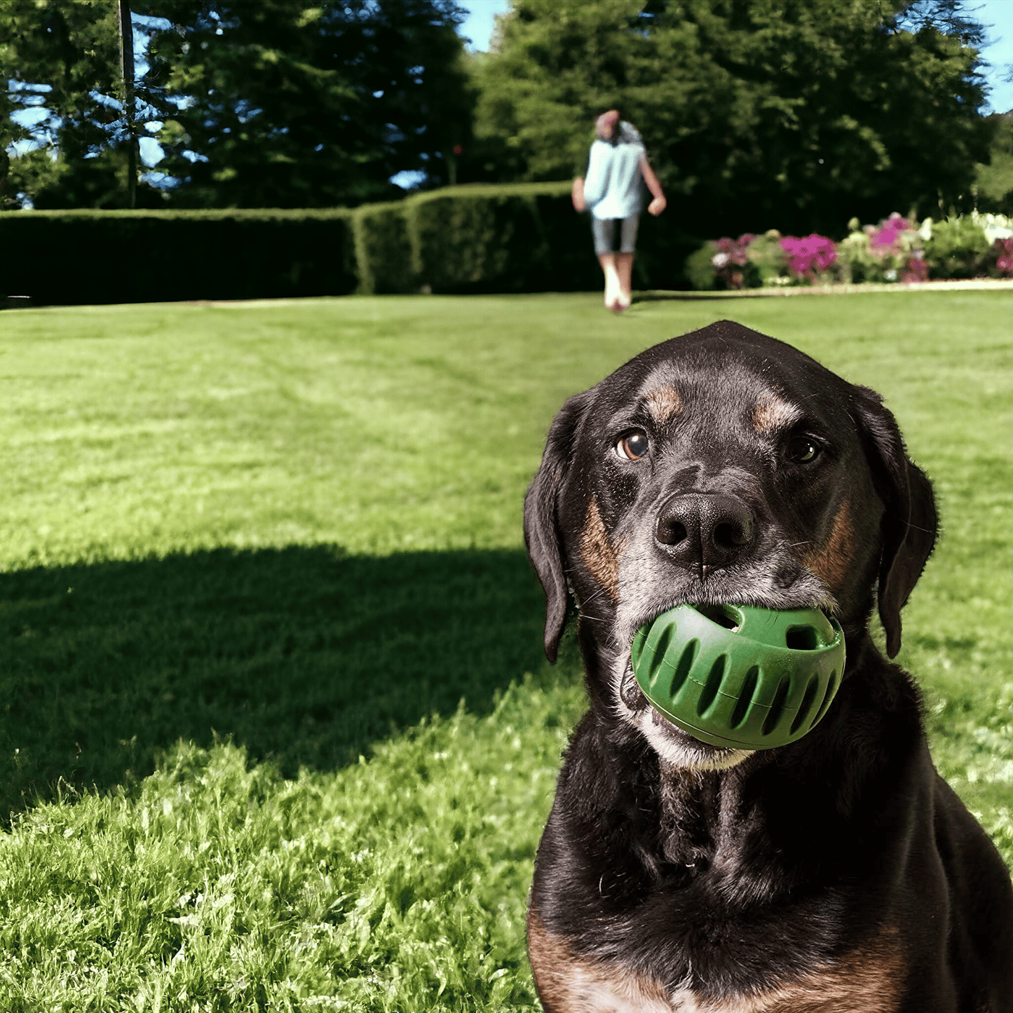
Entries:
<svg viewBox="0 0 1013 1013">
<path fill-rule="evenodd" d="M 357 204 L 399 192 L 402 170 L 446 180 L 470 126 L 453 0 L 136 6 L 174 26 L 149 76 L 178 96 L 159 164 L 175 203 Z"/>
</svg>

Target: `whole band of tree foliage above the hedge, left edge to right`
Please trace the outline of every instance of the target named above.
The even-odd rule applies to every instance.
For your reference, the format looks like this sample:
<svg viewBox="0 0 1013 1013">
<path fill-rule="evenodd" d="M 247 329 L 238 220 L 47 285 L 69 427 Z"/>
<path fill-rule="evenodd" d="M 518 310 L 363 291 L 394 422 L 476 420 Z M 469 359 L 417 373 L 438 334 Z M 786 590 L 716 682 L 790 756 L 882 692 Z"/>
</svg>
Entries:
<svg viewBox="0 0 1013 1013">
<path fill-rule="evenodd" d="M 115 6 L 0 0 L 0 202 L 126 204 Z M 972 200 L 989 158 L 962 0 L 515 0 L 471 58 L 454 0 L 134 8 L 135 133 L 157 138 L 170 184 L 142 206 L 355 205 L 398 193 L 403 170 L 566 178 L 612 105 L 643 134 L 670 220 L 699 235 L 938 214 Z M 48 114 L 34 151 L 9 119 L 27 107 Z"/>
</svg>

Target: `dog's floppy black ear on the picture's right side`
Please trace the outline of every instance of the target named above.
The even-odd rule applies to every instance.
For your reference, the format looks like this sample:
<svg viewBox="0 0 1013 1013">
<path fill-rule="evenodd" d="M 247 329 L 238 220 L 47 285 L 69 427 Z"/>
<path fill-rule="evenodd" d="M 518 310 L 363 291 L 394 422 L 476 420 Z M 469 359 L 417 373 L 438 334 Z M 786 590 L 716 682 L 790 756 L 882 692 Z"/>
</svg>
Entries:
<svg viewBox="0 0 1013 1013">
<path fill-rule="evenodd" d="M 901 649 L 901 609 L 932 554 L 939 525 L 932 483 L 908 457 L 897 419 L 875 391 L 856 390 L 855 406 L 868 441 L 866 455 L 884 506 L 879 619 L 886 633 L 886 653 L 895 657 Z"/>
</svg>

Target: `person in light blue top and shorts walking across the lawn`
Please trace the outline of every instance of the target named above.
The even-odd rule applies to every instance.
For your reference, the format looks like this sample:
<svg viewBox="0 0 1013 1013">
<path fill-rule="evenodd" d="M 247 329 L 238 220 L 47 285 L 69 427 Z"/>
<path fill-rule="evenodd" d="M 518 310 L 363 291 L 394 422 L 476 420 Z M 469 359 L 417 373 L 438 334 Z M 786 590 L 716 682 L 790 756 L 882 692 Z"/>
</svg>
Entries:
<svg viewBox="0 0 1013 1013">
<path fill-rule="evenodd" d="M 640 135 L 620 119 L 618 109 L 603 112 L 595 131 L 587 179 L 577 176 L 573 180 L 570 197 L 577 211 L 591 211 L 595 253 L 605 276 L 605 305 L 621 313 L 631 299 L 633 251 L 643 204 L 640 179 L 653 198 L 648 214 L 660 215 L 667 202 Z"/>
</svg>

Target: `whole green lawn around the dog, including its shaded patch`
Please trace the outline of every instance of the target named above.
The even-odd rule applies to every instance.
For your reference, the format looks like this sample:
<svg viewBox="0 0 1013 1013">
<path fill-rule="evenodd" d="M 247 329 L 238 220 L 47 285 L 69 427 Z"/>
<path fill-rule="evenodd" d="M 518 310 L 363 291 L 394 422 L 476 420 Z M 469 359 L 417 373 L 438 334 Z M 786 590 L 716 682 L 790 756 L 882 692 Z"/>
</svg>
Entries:
<svg viewBox="0 0 1013 1013">
<path fill-rule="evenodd" d="M 720 317 L 882 392 L 933 477 L 901 660 L 1013 863 L 1011 311 L 0 314 L 0 1009 L 537 1008 L 525 897 L 582 703 L 572 644 L 541 656 L 524 490 L 565 396 Z"/>
</svg>

